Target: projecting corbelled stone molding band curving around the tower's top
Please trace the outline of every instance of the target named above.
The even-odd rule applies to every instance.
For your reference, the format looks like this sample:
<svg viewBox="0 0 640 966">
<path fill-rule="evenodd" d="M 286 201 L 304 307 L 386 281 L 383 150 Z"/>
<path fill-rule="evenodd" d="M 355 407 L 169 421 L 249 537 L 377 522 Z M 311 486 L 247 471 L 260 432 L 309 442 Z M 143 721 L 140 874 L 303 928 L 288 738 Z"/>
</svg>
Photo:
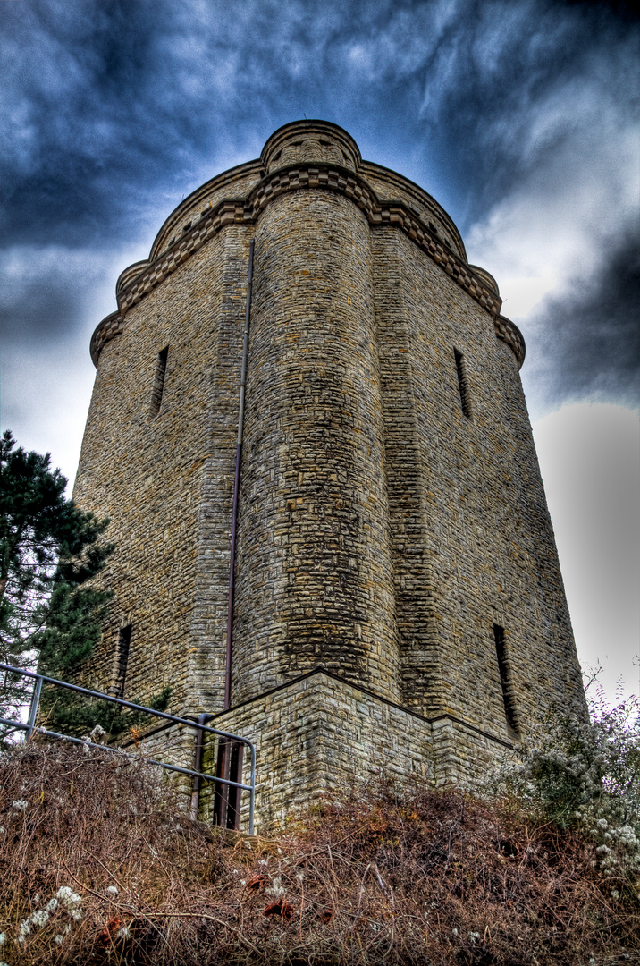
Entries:
<svg viewBox="0 0 640 966">
<path fill-rule="evenodd" d="M 514 323 L 500 315 L 502 299 L 489 288 L 481 273 L 476 273 L 448 245 L 439 241 L 437 236 L 422 219 L 407 208 L 401 201 L 380 203 L 376 192 L 353 171 L 339 165 L 296 164 L 294 167 L 279 168 L 269 173 L 256 185 L 246 199 L 222 199 L 209 211 L 203 213 L 181 236 L 161 253 L 127 284 L 121 285 L 118 292 L 119 313 L 103 319 L 96 328 L 91 342 L 91 355 L 94 364 L 102 347 L 122 331 L 128 310 L 145 298 L 167 275 L 170 275 L 185 262 L 193 252 L 216 235 L 225 225 L 254 223 L 273 199 L 285 191 L 299 188 L 321 188 L 343 194 L 351 200 L 367 217 L 369 223 L 394 225 L 411 239 L 419 248 L 447 272 L 460 288 L 474 298 L 491 315 L 495 334 L 502 339 L 515 354 L 518 367 L 524 361 L 524 339 Z M 144 263 L 143 263 L 144 264 Z M 133 267 L 131 267 L 133 268 Z M 125 280 L 128 270 L 123 272 Z M 483 272 L 484 274 L 484 272 Z"/>
</svg>

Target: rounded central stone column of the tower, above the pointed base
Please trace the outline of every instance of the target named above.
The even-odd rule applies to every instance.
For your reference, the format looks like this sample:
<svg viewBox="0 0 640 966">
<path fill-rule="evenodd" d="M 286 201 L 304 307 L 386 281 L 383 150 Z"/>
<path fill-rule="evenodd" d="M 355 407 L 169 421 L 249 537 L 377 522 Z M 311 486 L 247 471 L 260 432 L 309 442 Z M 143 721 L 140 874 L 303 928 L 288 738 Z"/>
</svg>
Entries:
<svg viewBox="0 0 640 966">
<path fill-rule="evenodd" d="M 370 229 L 296 191 L 256 229 L 234 702 L 318 664 L 398 697 Z"/>
</svg>

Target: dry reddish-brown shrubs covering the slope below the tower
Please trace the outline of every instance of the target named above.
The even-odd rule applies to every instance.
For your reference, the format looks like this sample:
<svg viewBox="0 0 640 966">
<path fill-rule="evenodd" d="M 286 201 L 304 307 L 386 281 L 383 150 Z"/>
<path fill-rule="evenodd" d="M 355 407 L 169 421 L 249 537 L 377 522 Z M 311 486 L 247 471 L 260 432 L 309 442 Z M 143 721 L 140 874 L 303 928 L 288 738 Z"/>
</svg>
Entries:
<svg viewBox="0 0 640 966">
<path fill-rule="evenodd" d="M 9 964 L 640 962 L 637 882 L 455 791 L 381 781 L 248 841 L 143 759 L 31 744 L 0 758 L 0 826 Z"/>
</svg>

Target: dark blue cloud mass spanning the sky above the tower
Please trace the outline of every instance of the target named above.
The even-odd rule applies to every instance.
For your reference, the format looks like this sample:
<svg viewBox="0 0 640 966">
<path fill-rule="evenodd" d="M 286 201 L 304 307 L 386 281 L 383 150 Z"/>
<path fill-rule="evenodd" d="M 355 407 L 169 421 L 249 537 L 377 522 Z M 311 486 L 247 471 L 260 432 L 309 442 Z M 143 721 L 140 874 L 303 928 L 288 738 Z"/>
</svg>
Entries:
<svg viewBox="0 0 640 966">
<path fill-rule="evenodd" d="M 431 170 L 445 202 L 473 220 L 536 162 L 521 144 L 545 92 L 568 72 L 596 69 L 616 84 L 623 24 L 602 7 L 2 4 L 7 231 L 16 241 L 133 238 L 158 188 L 194 185 L 230 148 L 255 154 L 303 114 L 364 135 L 372 155 L 383 145 L 382 160 L 404 171 L 413 157 L 415 176 Z"/>
</svg>

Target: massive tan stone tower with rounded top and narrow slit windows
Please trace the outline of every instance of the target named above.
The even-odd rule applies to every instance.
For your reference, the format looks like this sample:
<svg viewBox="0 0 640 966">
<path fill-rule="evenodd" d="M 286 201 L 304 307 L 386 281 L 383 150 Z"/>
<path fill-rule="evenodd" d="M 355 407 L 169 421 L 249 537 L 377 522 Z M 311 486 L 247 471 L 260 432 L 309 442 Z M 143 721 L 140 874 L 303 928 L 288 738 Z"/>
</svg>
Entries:
<svg viewBox="0 0 640 966">
<path fill-rule="evenodd" d="M 429 194 L 295 122 L 117 297 L 74 494 L 117 543 L 94 686 L 168 685 L 255 740 L 263 827 L 378 766 L 472 777 L 551 702 L 583 712 L 522 336 Z"/>
</svg>

